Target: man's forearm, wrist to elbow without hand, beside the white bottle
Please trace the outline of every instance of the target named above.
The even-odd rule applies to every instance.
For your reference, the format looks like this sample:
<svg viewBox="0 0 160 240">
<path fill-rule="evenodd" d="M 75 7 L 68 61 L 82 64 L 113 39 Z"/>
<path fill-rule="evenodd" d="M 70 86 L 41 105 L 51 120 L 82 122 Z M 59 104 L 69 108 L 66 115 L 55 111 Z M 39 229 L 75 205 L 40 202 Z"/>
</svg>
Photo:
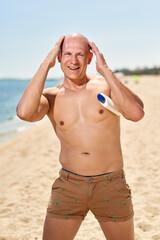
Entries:
<svg viewBox="0 0 160 240">
<path fill-rule="evenodd" d="M 111 98 L 122 115 L 132 121 L 140 120 L 144 115 L 141 99 L 120 82 L 107 66 L 103 68 L 102 75 L 111 89 Z"/>
</svg>

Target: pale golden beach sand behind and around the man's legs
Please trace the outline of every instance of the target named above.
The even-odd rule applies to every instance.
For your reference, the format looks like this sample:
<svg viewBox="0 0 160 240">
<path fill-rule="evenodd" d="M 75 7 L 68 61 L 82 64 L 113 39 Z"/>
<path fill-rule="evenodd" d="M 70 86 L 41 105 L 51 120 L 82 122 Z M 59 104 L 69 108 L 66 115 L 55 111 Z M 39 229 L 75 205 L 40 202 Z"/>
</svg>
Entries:
<svg viewBox="0 0 160 240">
<path fill-rule="evenodd" d="M 132 188 L 135 239 L 160 239 L 160 77 L 124 77 L 145 104 L 139 122 L 121 118 L 127 181 Z M 0 240 L 40 240 L 60 145 L 49 121 L 0 145 Z M 76 240 L 105 239 L 89 212 Z"/>
</svg>

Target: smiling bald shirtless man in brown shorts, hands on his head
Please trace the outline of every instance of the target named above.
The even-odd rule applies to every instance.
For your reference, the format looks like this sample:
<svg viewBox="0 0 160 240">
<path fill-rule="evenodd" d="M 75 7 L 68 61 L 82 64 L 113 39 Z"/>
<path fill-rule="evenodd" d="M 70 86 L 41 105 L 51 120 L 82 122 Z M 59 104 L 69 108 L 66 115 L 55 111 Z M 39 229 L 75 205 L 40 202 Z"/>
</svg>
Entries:
<svg viewBox="0 0 160 240">
<path fill-rule="evenodd" d="M 87 76 L 96 56 L 99 76 Z M 56 57 L 64 81 L 44 89 Z M 34 122 L 48 115 L 61 143 L 60 177 L 52 186 L 43 240 L 71 240 L 91 210 L 108 240 L 133 240 L 133 208 L 125 181 L 120 118 L 97 100 L 103 92 L 128 120 L 144 116 L 140 98 L 112 73 L 93 42 L 81 34 L 62 36 L 27 86 L 17 115 Z"/>
</svg>

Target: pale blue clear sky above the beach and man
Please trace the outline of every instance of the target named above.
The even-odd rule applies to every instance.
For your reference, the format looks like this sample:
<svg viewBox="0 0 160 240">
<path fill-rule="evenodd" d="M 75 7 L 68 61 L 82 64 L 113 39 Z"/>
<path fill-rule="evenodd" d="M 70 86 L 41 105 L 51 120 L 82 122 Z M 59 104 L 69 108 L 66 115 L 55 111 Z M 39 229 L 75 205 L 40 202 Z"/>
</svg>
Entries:
<svg viewBox="0 0 160 240">
<path fill-rule="evenodd" d="M 160 66 L 159 0 L 0 0 L 0 78 L 32 78 L 61 35 L 93 41 L 114 71 Z M 88 74 L 96 74 L 95 56 Z M 60 64 L 48 78 L 63 77 Z"/>
</svg>

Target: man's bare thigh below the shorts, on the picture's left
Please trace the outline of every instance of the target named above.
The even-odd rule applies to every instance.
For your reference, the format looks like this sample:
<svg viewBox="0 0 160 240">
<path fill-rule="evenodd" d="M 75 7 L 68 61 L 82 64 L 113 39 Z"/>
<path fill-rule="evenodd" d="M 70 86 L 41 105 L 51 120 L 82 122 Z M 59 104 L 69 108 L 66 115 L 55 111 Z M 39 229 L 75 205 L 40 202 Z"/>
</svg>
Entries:
<svg viewBox="0 0 160 240">
<path fill-rule="evenodd" d="M 81 223 L 81 219 L 58 219 L 46 216 L 43 240 L 72 240 Z"/>
</svg>

